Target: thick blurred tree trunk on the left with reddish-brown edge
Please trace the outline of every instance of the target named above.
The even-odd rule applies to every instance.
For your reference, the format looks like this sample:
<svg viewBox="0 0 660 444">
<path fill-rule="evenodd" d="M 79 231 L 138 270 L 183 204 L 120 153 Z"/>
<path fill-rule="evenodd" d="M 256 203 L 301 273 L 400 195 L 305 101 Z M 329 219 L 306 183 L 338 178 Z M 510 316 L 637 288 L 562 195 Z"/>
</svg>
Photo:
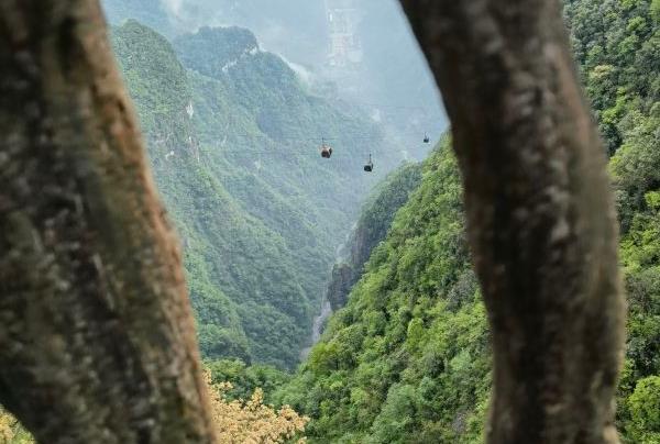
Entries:
<svg viewBox="0 0 660 444">
<path fill-rule="evenodd" d="M 0 402 L 42 443 L 211 443 L 177 241 L 97 0 L 0 2 Z"/>
</svg>

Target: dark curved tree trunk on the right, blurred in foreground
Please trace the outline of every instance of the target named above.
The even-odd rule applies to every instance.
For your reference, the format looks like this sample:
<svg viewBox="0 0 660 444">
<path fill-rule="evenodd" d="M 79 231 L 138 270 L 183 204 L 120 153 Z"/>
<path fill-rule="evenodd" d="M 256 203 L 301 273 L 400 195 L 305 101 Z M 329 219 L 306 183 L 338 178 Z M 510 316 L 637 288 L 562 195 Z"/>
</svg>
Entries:
<svg viewBox="0 0 660 444">
<path fill-rule="evenodd" d="M 616 443 L 625 302 L 558 0 L 402 0 L 452 123 L 488 309 L 488 443 Z"/>
</svg>

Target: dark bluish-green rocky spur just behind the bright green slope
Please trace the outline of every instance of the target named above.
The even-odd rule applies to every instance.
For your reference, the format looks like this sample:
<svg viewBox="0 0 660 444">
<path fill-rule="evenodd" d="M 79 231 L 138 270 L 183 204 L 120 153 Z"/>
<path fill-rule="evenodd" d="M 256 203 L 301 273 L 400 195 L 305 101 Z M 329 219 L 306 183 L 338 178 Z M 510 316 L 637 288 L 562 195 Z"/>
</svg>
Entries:
<svg viewBox="0 0 660 444">
<path fill-rule="evenodd" d="M 385 240 L 394 215 L 408 201 L 410 192 L 417 189 L 420 181 L 421 164 L 409 163 L 391 173 L 372 191 L 343 247 L 345 257 L 332 267 L 326 299 L 333 311 L 346 303 L 349 292 L 362 276 L 372 251 Z"/>
</svg>

